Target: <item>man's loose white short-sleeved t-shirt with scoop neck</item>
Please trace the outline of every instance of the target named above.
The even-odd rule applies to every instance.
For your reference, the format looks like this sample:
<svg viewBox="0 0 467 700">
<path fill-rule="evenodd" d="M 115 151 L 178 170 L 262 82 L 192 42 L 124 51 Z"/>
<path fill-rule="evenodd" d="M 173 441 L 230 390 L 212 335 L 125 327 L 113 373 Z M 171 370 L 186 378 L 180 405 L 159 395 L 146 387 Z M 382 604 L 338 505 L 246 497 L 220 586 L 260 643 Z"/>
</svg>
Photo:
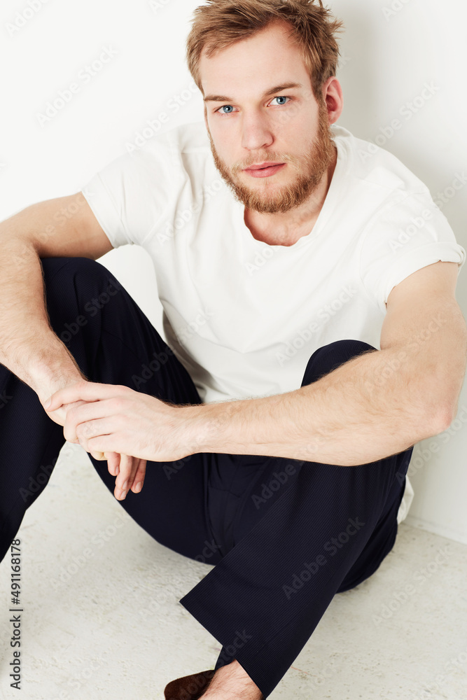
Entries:
<svg viewBox="0 0 467 700">
<path fill-rule="evenodd" d="M 337 165 L 312 231 L 257 241 L 218 173 L 203 122 L 177 126 L 83 188 L 114 248 L 151 255 L 167 344 L 202 402 L 300 387 L 314 351 L 340 339 L 380 349 L 393 286 L 457 244 L 428 188 L 388 151 L 331 127 Z M 406 480 L 398 521 L 413 498 Z"/>
</svg>

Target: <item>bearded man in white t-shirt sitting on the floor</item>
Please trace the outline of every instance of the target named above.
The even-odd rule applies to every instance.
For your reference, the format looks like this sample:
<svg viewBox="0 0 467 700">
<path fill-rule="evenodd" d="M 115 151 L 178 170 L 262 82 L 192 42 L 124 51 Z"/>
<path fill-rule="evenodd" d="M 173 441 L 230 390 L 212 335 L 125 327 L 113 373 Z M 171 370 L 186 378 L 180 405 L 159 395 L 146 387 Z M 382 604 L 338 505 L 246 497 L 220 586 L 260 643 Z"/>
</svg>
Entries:
<svg viewBox="0 0 467 700">
<path fill-rule="evenodd" d="M 187 51 L 204 124 L 1 228 L 2 552 L 18 491 L 80 442 L 146 531 L 216 564 L 181 600 L 216 673 L 166 698 L 267 697 L 393 547 L 413 445 L 456 413 L 466 254 L 414 174 L 335 125 L 339 27 L 321 2 L 210 0 Z M 39 236 L 64 203 L 67 234 Z M 167 344 L 95 262 L 127 243 Z"/>
</svg>

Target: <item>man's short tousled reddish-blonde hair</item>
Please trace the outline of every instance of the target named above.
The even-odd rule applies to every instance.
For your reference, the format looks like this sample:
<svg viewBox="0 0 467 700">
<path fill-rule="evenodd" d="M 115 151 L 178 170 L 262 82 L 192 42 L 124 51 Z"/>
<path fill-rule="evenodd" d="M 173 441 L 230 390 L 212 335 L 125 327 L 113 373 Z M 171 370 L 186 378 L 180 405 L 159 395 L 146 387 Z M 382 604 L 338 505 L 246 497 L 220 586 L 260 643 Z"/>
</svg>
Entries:
<svg viewBox="0 0 467 700">
<path fill-rule="evenodd" d="M 321 88 L 335 76 L 340 52 L 334 35 L 343 23 L 333 18 L 321 0 L 207 0 L 194 14 L 186 60 L 203 96 L 200 57 L 204 48 L 209 58 L 277 20 L 291 27 L 290 36 L 302 51 L 316 99 L 321 101 Z"/>
</svg>

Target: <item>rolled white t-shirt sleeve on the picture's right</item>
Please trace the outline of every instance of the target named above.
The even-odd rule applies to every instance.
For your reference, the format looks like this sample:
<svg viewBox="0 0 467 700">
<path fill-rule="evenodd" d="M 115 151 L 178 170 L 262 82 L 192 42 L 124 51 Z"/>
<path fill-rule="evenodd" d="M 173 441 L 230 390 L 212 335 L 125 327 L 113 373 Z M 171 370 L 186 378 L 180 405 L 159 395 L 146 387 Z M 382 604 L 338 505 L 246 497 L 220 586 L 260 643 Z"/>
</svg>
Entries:
<svg viewBox="0 0 467 700">
<path fill-rule="evenodd" d="M 447 218 L 427 193 L 410 193 L 376 216 L 363 233 L 361 281 L 368 295 L 386 312 L 393 287 L 433 262 L 466 262 Z"/>
</svg>

